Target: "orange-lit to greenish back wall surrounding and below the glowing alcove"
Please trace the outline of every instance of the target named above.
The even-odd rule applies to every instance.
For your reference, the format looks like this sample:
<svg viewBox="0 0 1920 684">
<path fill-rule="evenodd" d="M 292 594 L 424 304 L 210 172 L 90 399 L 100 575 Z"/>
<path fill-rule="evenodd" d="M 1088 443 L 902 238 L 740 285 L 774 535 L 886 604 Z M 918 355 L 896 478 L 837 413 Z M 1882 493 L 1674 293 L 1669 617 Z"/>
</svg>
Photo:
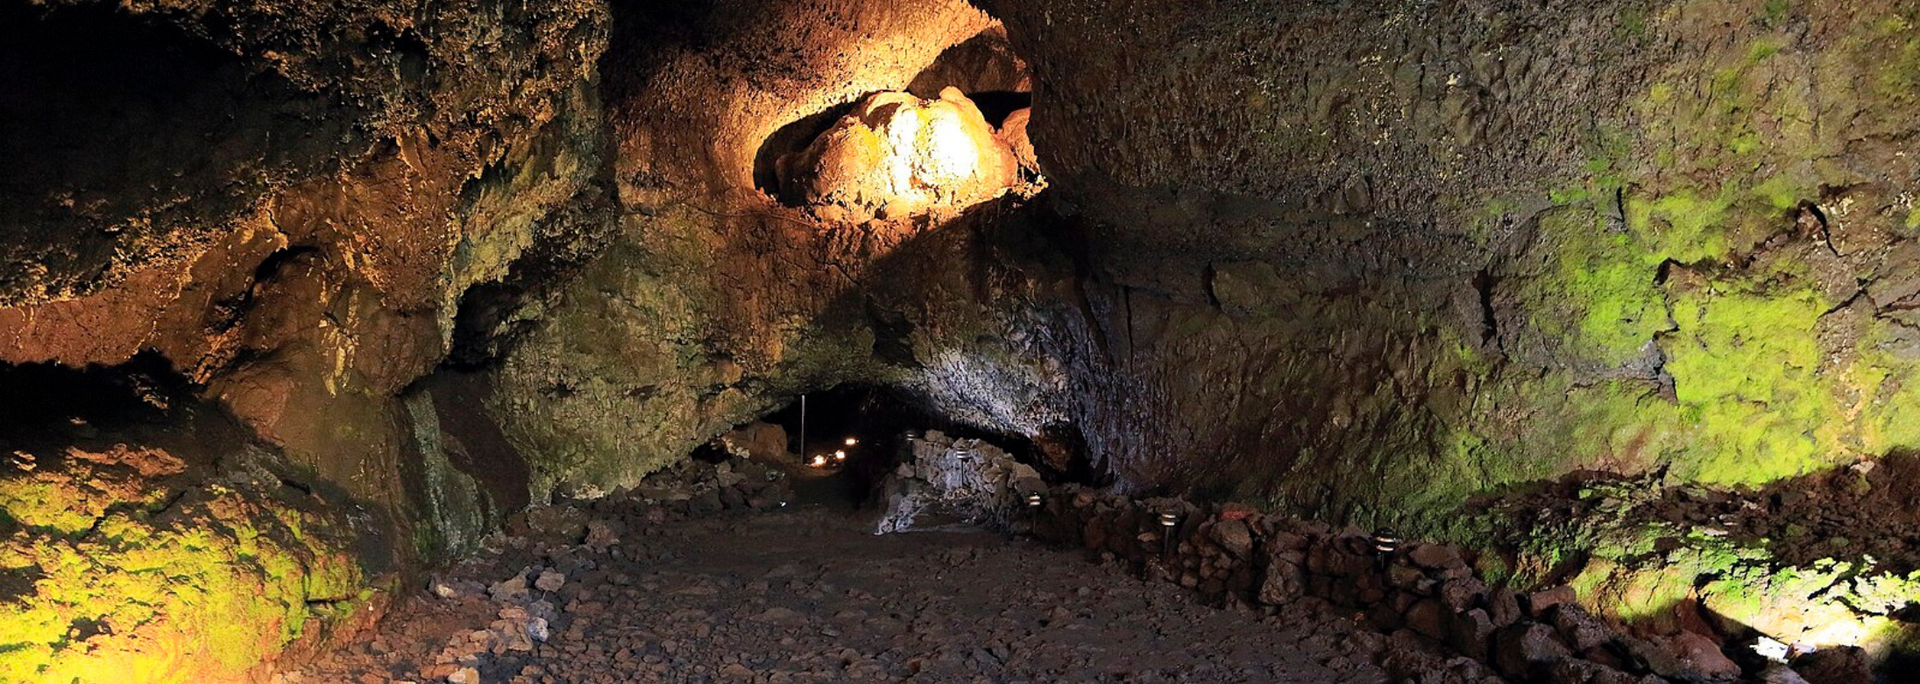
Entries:
<svg viewBox="0 0 1920 684">
<path fill-rule="evenodd" d="M 799 392 L 943 375 L 874 352 L 906 334 L 889 321 L 925 321 L 906 319 L 910 302 L 958 292 L 964 309 L 916 311 L 941 311 L 935 325 L 964 330 L 968 344 L 977 330 L 998 330 L 981 319 L 991 307 L 975 296 L 964 246 L 989 215 L 1012 209 L 816 221 L 756 175 L 768 138 L 870 92 L 906 88 L 943 50 L 989 31 L 991 17 L 958 0 L 820 0 L 616 19 L 603 71 L 618 238 L 495 371 L 493 413 L 536 461 L 536 498 L 630 486 Z M 876 275 L 910 254 L 943 252 L 947 261 L 922 259 L 931 271 Z M 1008 384 L 1031 392 L 1035 382 Z M 1006 403 L 1018 405 L 996 409 L 1002 428 L 1033 421 L 1023 407 L 1039 402 Z"/>
</svg>

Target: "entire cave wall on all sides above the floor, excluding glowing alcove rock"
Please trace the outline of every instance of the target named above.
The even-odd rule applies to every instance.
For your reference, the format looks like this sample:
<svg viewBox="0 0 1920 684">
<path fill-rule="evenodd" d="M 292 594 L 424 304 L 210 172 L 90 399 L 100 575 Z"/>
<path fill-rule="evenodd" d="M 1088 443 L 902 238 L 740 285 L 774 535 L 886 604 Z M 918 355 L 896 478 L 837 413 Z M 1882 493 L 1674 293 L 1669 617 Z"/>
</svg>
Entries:
<svg viewBox="0 0 1920 684">
<path fill-rule="evenodd" d="M 1475 544 L 1469 500 L 1574 471 L 1920 450 L 1910 2 L 8 12 L 315 123 L 161 146 L 159 186 L 0 177 L 0 359 L 157 402 L 0 434 L 33 463 L 0 469 L 8 680 L 240 678 L 528 501 L 841 382 L 1131 492 Z M 760 190 L 776 131 L 996 23 L 1043 194 L 843 225 Z M 1659 594 L 1582 576 L 1619 613 Z"/>
</svg>

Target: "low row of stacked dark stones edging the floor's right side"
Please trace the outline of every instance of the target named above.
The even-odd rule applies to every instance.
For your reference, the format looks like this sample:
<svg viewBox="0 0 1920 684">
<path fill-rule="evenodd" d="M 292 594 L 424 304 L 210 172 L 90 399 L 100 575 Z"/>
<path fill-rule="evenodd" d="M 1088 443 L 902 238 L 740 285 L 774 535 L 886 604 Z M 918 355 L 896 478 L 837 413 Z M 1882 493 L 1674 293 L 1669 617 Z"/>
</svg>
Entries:
<svg viewBox="0 0 1920 684">
<path fill-rule="evenodd" d="M 1162 525 L 1162 513 L 1175 515 L 1171 528 Z M 1359 530 L 1244 505 L 1133 500 L 1077 484 L 1050 488 L 1016 528 L 1081 546 L 1104 561 L 1125 561 L 1146 578 L 1179 582 L 1215 603 L 1325 601 L 1396 640 L 1488 665 L 1492 672 L 1478 680 L 1498 680 L 1494 672 L 1513 682 L 1551 684 L 1740 678 L 1740 667 L 1707 636 L 1626 634 L 1580 607 L 1567 586 L 1532 594 L 1488 586 L 1465 553 L 1444 544 L 1404 544 L 1380 553 Z M 1476 674 L 1421 680 L 1476 680 Z"/>
</svg>

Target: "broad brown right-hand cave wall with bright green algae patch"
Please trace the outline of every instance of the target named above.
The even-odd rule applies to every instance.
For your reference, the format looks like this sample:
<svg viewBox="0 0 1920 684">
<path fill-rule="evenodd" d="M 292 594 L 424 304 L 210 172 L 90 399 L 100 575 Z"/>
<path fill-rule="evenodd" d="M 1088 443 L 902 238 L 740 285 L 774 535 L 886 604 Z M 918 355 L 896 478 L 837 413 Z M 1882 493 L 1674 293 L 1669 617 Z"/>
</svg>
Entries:
<svg viewBox="0 0 1920 684">
<path fill-rule="evenodd" d="M 1920 440 L 1908 4 L 983 6 L 1098 225 L 1081 423 L 1137 486 L 1442 530 Z"/>
</svg>

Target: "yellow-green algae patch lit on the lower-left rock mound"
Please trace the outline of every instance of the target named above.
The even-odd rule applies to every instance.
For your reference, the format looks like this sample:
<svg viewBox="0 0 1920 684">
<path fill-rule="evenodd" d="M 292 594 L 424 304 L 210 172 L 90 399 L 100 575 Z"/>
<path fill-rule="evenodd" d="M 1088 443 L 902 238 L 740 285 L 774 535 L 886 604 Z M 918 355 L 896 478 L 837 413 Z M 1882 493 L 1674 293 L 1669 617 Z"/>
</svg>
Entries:
<svg viewBox="0 0 1920 684">
<path fill-rule="evenodd" d="M 73 450 L 40 465 L 0 475 L 10 519 L 44 519 L 38 509 L 56 505 L 100 515 L 84 526 L 15 525 L 0 538 L 0 573 L 31 578 L 0 596 L 0 680 L 240 680 L 300 638 L 324 601 L 365 584 L 349 523 L 278 498 L 271 475 L 198 482 L 144 450 Z M 125 490 L 144 496 L 123 500 Z M 56 498 L 35 500 L 46 492 Z"/>
</svg>

